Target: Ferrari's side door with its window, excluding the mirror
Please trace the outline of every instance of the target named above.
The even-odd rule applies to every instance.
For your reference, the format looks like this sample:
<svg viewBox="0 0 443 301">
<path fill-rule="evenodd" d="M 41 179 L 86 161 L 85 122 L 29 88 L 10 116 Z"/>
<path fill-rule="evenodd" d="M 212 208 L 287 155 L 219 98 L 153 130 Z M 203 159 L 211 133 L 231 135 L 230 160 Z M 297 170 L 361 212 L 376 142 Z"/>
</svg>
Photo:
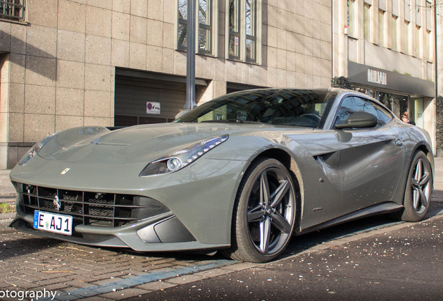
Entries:
<svg viewBox="0 0 443 301">
<path fill-rule="evenodd" d="M 358 96 L 344 98 L 336 113 L 336 125 L 350 114 L 366 111 L 377 118 L 373 128 L 349 128 L 339 131 L 341 201 L 339 215 L 345 215 L 384 201 L 391 201 L 403 169 L 403 144 L 389 127 L 389 112 L 382 106 Z"/>
</svg>

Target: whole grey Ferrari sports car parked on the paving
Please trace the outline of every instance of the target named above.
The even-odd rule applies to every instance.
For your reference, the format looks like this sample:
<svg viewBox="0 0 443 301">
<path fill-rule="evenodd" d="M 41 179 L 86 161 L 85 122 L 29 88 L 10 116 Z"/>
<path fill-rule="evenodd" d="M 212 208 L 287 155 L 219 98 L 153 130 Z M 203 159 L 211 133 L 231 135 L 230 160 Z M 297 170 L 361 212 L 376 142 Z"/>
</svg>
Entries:
<svg viewBox="0 0 443 301">
<path fill-rule="evenodd" d="M 173 123 L 46 137 L 10 173 L 11 226 L 85 245 L 265 262 L 293 235 L 351 219 L 422 219 L 433 164 L 428 133 L 362 93 L 240 91 Z"/>
</svg>

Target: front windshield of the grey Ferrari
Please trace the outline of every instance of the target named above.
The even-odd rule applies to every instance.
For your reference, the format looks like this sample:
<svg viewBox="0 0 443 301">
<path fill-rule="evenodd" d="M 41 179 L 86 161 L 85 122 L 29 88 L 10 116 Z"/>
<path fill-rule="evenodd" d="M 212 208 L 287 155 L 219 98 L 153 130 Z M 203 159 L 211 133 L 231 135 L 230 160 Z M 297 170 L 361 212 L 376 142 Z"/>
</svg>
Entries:
<svg viewBox="0 0 443 301">
<path fill-rule="evenodd" d="M 336 93 L 294 89 L 264 89 L 230 93 L 174 122 L 269 123 L 322 128 Z"/>
</svg>

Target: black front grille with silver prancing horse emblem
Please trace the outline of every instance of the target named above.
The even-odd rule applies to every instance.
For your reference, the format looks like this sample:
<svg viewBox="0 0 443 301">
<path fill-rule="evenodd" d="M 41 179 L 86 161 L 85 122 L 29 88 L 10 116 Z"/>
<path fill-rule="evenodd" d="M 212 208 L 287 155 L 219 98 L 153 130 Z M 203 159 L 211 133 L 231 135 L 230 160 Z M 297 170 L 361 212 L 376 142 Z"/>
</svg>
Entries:
<svg viewBox="0 0 443 301">
<path fill-rule="evenodd" d="M 42 210 L 71 215 L 74 225 L 123 226 L 169 211 L 146 196 L 63 190 L 23 183 L 15 183 L 15 187 L 24 213 L 33 215 L 34 210 Z"/>
</svg>

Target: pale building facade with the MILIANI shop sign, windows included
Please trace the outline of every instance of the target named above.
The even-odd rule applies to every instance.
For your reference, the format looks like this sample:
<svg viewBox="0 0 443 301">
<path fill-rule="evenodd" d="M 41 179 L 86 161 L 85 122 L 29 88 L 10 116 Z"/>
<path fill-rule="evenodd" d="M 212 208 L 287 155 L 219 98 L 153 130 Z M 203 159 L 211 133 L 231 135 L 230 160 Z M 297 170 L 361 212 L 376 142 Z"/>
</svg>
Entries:
<svg viewBox="0 0 443 301">
<path fill-rule="evenodd" d="M 333 76 L 405 112 L 435 150 L 435 7 L 430 0 L 332 0 Z"/>
</svg>

